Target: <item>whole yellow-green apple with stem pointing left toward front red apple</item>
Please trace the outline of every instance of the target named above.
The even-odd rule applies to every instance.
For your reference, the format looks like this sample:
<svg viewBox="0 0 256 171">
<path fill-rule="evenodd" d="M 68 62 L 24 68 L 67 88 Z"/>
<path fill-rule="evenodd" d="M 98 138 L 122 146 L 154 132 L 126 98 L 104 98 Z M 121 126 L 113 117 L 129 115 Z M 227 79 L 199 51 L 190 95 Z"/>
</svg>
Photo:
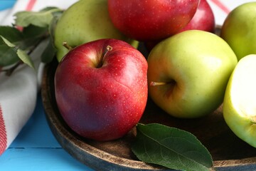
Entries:
<svg viewBox="0 0 256 171">
<path fill-rule="evenodd" d="M 183 31 L 158 43 L 148 56 L 149 95 L 176 118 L 199 118 L 223 103 L 238 63 L 222 38 L 207 31 Z"/>
</svg>

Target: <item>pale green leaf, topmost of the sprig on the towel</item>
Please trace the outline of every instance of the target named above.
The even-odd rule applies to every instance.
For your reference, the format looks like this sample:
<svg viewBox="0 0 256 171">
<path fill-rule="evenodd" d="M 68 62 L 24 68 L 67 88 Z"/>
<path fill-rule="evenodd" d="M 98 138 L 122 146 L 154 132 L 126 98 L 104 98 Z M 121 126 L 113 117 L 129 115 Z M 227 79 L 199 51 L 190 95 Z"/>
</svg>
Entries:
<svg viewBox="0 0 256 171">
<path fill-rule="evenodd" d="M 47 7 L 41 11 L 19 11 L 16 16 L 15 24 L 26 27 L 30 24 L 40 27 L 47 27 L 53 19 L 55 12 L 61 11 L 56 7 Z"/>
</svg>

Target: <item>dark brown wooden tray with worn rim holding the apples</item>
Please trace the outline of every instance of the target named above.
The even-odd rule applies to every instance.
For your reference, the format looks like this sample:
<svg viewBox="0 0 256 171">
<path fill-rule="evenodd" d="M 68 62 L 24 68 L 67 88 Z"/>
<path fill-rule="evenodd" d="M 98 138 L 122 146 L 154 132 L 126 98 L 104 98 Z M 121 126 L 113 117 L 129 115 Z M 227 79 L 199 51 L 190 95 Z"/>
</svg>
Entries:
<svg viewBox="0 0 256 171">
<path fill-rule="evenodd" d="M 53 61 L 46 65 L 43 72 L 42 98 L 48 125 L 60 145 L 85 165 L 95 170 L 166 170 L 137 160 L 130 144 L 134 131 L 124 138 L 109 142 L 97 142 L 81 138 L 70 130 L 61 117 L 55 102 L 54 73 L 58 65 Z M 256 148 L 237 138 L 225 124 L 222 107 L 214 113 L 199 119 L 177 119 L 164 113 L 149 98 L 140 123 L 161 123 L 187 130 L 196 135 L 207 147 L 215 167 L 253 166 L 256 168 Z"/>
</svg>

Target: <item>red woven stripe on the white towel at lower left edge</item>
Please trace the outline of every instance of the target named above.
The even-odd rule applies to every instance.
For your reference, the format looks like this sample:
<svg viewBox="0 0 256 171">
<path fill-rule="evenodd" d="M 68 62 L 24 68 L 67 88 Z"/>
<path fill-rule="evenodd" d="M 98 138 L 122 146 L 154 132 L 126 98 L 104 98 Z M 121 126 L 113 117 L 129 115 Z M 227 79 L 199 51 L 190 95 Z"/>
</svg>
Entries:
<svg viewBox="0 0 256 171">
<path fill-rule="evenodd" d="M 4 117 L 0 105 L 0 155 L 6 150 L 7 146 L 7 135 L 6 128 L 4 125 Z"/>
</svg>

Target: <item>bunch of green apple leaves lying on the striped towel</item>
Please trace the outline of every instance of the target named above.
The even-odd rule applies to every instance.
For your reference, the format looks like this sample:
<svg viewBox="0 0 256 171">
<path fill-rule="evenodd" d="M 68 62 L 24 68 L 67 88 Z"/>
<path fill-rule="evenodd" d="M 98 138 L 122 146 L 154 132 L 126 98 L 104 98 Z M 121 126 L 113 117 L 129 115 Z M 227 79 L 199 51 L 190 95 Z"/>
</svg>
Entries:
<svg viewBox="0 0 256 171">
<path fill-rule="evenodd" d="M 34 68 L 30 54 L 38 47 L 43 48 L 41 61 L 50 62 L 55 56 L 53 45 L 54 31 L 51 24 L 63 14 L 63 10 L 47 7 L 41 11 L 20 11 L 16 13 L 14 26 L 0 26 L 0 68 L 16 63 L 11 70 L 21 63 Z M 20 31 L 15 26 L 23 27 Z M 45 40 L 48 40 L 48 43 Z M 21 62 L 22 61 L 22 62 Z"/>
</svg>

